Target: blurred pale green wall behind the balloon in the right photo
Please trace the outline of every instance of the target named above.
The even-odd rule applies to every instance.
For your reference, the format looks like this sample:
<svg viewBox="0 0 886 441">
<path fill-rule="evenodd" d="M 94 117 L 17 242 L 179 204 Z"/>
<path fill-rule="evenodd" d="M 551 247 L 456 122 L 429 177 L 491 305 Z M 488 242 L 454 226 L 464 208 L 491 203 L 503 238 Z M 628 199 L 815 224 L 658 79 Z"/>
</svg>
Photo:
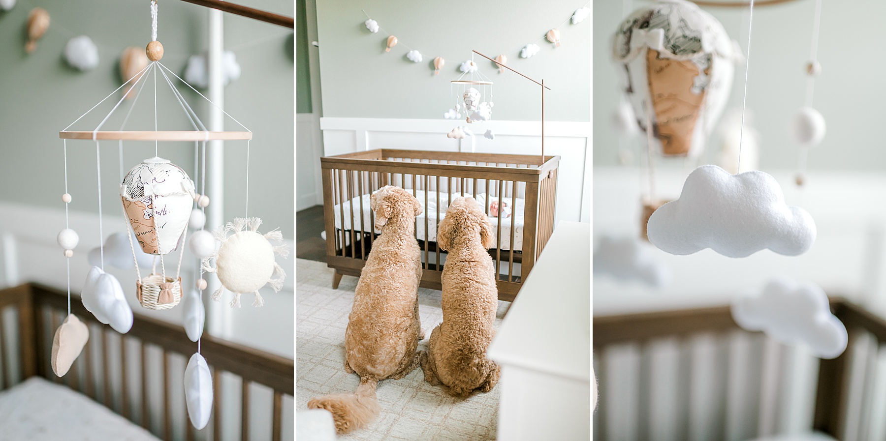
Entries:
<svg viewBox="0 0 886 441">
<path fill-rule="evenodd" d="M 610 124 L 618 104 L 618 82 L 610 58 L 610 36 L 623 17 L 622 0 L 594 2 L 594 164 L 618 162 L 619 140 Z M 634 6 L 648 2 L 634 1 Z M 859 25 L 859 17 L 886 15 L 886 2 L 822 2 L 819 43 L 821 74 L 815 81 L 813 106 L 828 125 L 824 141 L 809 153 L 811 169 L 886 169 L 882 121 L 886 68 L 877 55 L 886 27 Z M 760 134 L 759 162 L 764 170 L 796 168 L 799 147 L 788 133 L 789 119 L 804 105 L 814 0 L 754 9 L 750 47 L 748 109 Z M 747 10 L 709 8 L 727 33 L 747 53 Z M 741 107 L 744 67 L 735 69 L 730 107 Z M 638 143 L 640 140 L 637 141 Z M 634 150 L 637 151 L 637 150 Z M 708 155 L 716 161 L 715 154 Z M 683 166 L 682 161 L 676 166 Z"/>
</svg>

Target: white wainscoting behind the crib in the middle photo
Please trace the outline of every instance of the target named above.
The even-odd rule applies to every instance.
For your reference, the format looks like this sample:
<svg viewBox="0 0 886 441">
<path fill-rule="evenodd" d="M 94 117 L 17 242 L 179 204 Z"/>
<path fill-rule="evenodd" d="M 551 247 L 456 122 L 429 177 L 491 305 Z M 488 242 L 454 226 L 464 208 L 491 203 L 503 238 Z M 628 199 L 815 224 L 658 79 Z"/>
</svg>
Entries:
<svg viewBox="0 0 886 441">
<path fill-rule="evenodd" d="M 323 155 L 379 148 L 541 154 L 539 121 L 486 121 L 469 125 L 474 132 L 473 136 L 460 140 L 446 137 L 452 128 L 460 125 L 466 124 L 456 120 L 323 117 L 320 119 Z M 494 140 L 483 136 L 487 128 L 493 130 Z M 590 221 L 590 136 L 590 122 L 545 122 L 545 154 L 560 155 L 556 221 Z M 299 172 L 300 170 L 299 168 Z M 298 191 L 300 198 L 302 193 L 300 189 Z"/>
</svg>

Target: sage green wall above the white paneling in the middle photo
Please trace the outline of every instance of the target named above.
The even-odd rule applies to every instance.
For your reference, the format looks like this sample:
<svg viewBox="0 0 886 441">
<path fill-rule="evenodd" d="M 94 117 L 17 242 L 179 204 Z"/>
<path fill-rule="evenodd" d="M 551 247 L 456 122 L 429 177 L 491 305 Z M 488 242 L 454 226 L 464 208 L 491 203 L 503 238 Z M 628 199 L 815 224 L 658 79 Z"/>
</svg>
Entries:
<svg viewBox="0 0 886 441">
<path fill-rule="evenodd" d="M 590 120 L 590 19 L 560 27 L 559 48 L 541 41 L 534 57 L 519 57 L 526 43 L 580 6 L 574 0 L 318 0 L 323 116 L 442 119 L 452 106 L 449 81 L 460 74 L 458 66 L 470 59 L 470 50 L 479 50 L 490 57 L 503 53 L 509 66 L 545 79 L 552 89 L 545 96 L 547 120 Z M 390 53 L 385 53 L 387 35 L 372 34 L 363 25 L 361 8 L 400 39 Z M 406 58 L 409 48 L 422 53 L 421 63 Z M 434 76 L 432 60 L 438 56 L 447 63 Z M 517 74 L 499 74 L 492 62 L 475 59 L 494 81 L 496 120 L 540 118 L 538 86 Z"/>
</svg>

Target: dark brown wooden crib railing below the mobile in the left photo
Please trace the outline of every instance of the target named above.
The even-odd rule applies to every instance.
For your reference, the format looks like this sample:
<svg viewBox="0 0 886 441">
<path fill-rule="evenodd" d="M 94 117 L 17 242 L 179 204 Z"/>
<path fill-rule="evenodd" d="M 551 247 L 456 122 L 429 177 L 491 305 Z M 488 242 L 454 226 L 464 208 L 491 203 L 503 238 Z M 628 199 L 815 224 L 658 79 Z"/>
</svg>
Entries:
<svg viewBox="0 0 886 441">
<path fill-rule="evenodd" d="M 136 314 L 132 329 L 121 337 L 98 322 L 79 297 L 72 297 L 71 312 L 89 325 L 89 344 L 68 373 L 59 378 L 52 372 L 50 352 L 55 329 L 67 313 L 65 294 L 37 284 L 0 290 L 0 390 L 38 375 L 82 392 L 165 440 L 221 439 L 224 418 L 219 409 L 223 402 L 226 409 L 232 405 L 240 408 L 240 412 L 234 412 L 240 417 L 237 439 L 249 439 L 253 425 L 268 422 L 271 427 L 260 428 L 268 429 L 261 431 L 266 431 L 274 441 L 281 439 L 284 396 L 291 397 L 294 389 L 292 360 L 204 334 L 200 352 L 213 372 L 213 416 L 206 428 L 195 430 L 190 422 L 181 423 L 187 418 L 183 414 L 183 397 L 176 400 L 170 393 L 183 390 L 180 381 L 184 363 L 197 349 L 197 344 L 188 339 L 181 327 Z M 10 322 L 11 318 L 14 323 Z M 96 351 L 98 353 L 94 353 Z M 181 372 L 170 368 L 174 358 L 181 365 L 174 368 L 180 368 Z M 138 360 L 136 366 L 132 360 Z M 161 377 L 160 392 L 156 386 L 149 385 L 149 374 L 152 378 Z M 178 377 L 175 382 L 171 380 L 174 375 Z M 231 375 L 239 377 L 239 391 L 223 390 L 224 384 L 229 383 L 223 380 Z M 120 378 L 119 387 L 112 382 L 112 377 Z M 132 390 L 132 380 L 140 383 L 136 391 Z M 269 389 L 267 398 L 272 402 L 256 400 L 260 395 L 257 389 L 262 392 Z M 149 401 L 158 395 L 161 405 L 156 412 L 158 406 Z M 231 402 L 231 395 L 237 396 L 237 403 Z M 272 412 L 269 421 L 255 418 L 250 410 L 253 406 L 269 407 Z M 175 417 L 180 422 L 178 430 L 172 423 Z M 224 417 L 229 414 L 225 413 Z"/>
</svg>

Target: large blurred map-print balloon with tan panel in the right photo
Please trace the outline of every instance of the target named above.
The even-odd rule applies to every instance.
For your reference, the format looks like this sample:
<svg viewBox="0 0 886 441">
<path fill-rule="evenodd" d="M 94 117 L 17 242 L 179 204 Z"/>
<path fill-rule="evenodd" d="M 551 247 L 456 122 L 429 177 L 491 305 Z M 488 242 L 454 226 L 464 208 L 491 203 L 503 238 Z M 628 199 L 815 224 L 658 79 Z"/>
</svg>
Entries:
<svg viewBox="0 0 886 441">
<path fill-rule="evenodd" d="M 612 57 L 642 130 L 652 126 L 653 151 L 702 151 L 727 104 L 737 53 L 723 25 L 688 1 L 646 4 L 621 22 Z"/>
</svg>

